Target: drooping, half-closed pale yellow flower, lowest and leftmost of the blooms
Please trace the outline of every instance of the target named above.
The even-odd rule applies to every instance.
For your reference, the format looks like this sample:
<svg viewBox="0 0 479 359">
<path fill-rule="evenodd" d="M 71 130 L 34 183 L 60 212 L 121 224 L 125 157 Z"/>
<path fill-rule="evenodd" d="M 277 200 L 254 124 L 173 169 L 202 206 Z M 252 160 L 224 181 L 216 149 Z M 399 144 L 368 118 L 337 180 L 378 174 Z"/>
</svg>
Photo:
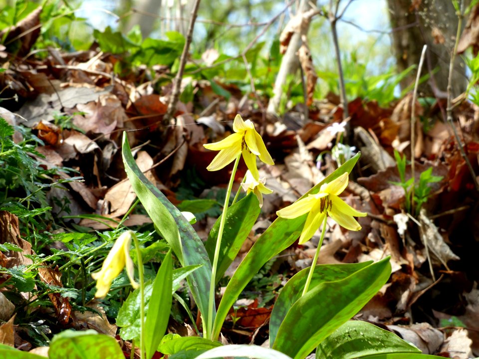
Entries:
<svg viewBox="0 0 479 359">
<path fill-rule="evenodd" d="M 131 236 L 133 232 L 128 230 L 123 232 L 111 248 L 99 272 L 92 273 L 92 278 L 96 280 L 95 298 L 103 298 L 110 290 L 111 282 L 126 267 L 126 274 L 130 279 L 133 288 L 138 288 L 138 283 L 133 277 L 134 267 L 130 257 Z"/>
</svg>

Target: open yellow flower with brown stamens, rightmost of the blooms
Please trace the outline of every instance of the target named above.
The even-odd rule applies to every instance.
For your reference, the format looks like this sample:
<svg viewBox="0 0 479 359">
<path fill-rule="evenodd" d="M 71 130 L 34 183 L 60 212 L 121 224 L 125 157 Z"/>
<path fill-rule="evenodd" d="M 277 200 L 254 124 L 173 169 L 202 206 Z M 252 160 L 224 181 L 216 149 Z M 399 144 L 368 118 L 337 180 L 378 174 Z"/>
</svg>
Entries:
<svg viewBox="0 0 479 359">
<path fill-rule="evenodd" d="M 311 239 L 326 215 L 346 229 L 360 230 L 361 226 L 353 216 L 364 217 L 366 213 L 357 211 L 338 197 L 347 185 L 348 173 L 345 173 L 329 183 L 323 183 L 318 193 L 309 194 L 307 197 L 278 210 L 276 214 L 283 218 L 296 218 L 309 212 L 299 237 L 299 244 Z"/>
</svg>

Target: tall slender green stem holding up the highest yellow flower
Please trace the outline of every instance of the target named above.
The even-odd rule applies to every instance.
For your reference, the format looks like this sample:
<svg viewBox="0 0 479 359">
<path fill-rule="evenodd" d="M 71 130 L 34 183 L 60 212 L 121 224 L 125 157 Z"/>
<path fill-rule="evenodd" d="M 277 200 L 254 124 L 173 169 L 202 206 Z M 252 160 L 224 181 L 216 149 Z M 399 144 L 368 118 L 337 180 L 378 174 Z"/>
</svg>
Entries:
<svg viewBox="0 0 479 359">
<path fill-rule="evenodd" d="M 220 229 L 218 231 L 218 239 L 216 240 L 215 256 L 213 258 L 213 266 L 211 269 L 211 283 L 210 283 L 210 302 L 208 308 L 208 338 L 215 341 L 213 338 L 213 312 L 215 310 L 215 287 L 216 287 L 216 270 L 218 268 L 218 257 L 220 256 L 221 238 L 223 237 L 223 230 L 226 222 L 226 211 L 228 210 L 228 204 L 230 203 L 231 188 L 235 181 L 236 170 L 240 162 L 240 156 L 237 157 L 233 171 L 231 173 L 230 183 L 228 184 L 228 190 L 226 191 L 225 204 L 223 205 L 223 213 L 221 214 Z"/>
</svg>

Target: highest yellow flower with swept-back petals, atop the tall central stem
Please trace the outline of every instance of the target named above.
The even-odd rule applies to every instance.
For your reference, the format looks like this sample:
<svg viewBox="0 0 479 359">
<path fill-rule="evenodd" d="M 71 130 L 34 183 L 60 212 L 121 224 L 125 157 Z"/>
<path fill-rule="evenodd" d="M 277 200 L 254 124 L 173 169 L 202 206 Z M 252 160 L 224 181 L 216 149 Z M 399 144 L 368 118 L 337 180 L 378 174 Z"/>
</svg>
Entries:
<svg viewBox="0 0 479 359">
<path fill-rule="evenodd" d="M 255 179 L 259 179 L 258 169 L 256 167 L 256 156 L 268 165 L 274 165 L 274 162 L 264 146 L 263 139 L 254 129 L 254 124 L 250 120 L 243 121 L 240 115 L 236 115 L 233 122 L 234 134 L 226 139 L 212 144 L 203 145 L 208 150 L 220 151 L 213 159 L 208 171 L 218 171 L 229 165 L 237 159 L 240 154 L 243 156 L 244 163 Z"/>
</svg>

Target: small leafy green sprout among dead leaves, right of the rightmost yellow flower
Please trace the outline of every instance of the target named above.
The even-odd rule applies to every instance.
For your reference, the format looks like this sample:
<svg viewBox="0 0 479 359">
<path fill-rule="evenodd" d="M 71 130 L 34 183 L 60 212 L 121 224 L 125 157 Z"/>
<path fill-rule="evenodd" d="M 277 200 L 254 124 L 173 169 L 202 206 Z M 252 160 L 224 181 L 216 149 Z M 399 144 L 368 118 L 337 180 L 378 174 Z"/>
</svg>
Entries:
<svg viewBox="0 0 479 359">
<path fill-rule="evenodd" d="M 391 182 L 403 187 L 405 193 L 405 209 L 408 213 L 418 216 L 424 203 L 427 202 L 431 194 L 431 183 L 439 182 L 442 176 L 434 176 L 433 168 L 430 167 L 423 171 L 419 176 L 419 183 L 414 178 L 406 180 L 406 155 L 401 156 L 398 151 L 394 151 L 394 157 L 398 166 L 399 178 L 401 182 Z M 414 189 L 414 190 L 413 190 Z"/>
</svg>

